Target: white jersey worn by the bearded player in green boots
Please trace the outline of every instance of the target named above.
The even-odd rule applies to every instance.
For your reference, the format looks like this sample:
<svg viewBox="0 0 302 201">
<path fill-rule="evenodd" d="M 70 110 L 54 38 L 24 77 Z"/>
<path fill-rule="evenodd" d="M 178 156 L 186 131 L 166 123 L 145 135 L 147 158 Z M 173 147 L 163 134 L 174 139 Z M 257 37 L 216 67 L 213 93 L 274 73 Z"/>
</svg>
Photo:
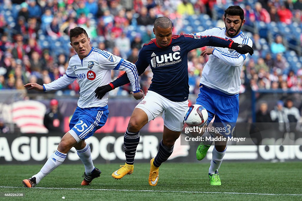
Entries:
<svg viewBox="0 0 302 201">
<path fill-rule="evenodd" d="M 247 37 L 242 31 L 233 37 L 227 37 L 226 28 L 214 27 L 203 32 L 198 32 L 198 36 L 217 36 L 225 39 L 232 39 L 239 44 L 247 44 L 252 47 L 252 40 Z M 244 60 L 249 54 L 241 55 L 233 49 L 215 48 L 213 54 L 210 55 L 202 71 L 200 83 L 217 89 L 226 94 L 237 94 L 240 90 L 241 80 L 240 74 Z"/>
</svg>

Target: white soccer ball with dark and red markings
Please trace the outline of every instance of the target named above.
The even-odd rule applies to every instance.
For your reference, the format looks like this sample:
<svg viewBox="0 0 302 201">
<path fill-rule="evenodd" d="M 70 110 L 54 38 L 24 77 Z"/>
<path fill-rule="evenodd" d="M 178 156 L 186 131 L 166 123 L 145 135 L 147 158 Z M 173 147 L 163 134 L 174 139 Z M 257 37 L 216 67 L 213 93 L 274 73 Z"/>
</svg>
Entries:
<svg viewBox="0 0 302 201">
<path fill-rule="evenodd" d="M 204 106 L 194 104 L 187 108 L 184 119 L 184 122 L 190 127 L 202 127 L 205 123 L 207 123 L 208 113 Z"/>
</svg>

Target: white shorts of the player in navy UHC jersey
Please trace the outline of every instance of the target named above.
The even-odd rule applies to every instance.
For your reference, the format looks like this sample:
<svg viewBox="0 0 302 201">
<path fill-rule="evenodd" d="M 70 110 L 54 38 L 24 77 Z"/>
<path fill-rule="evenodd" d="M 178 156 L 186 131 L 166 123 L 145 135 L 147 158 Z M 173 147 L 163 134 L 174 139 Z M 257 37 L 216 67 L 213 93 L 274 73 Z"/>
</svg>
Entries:
<svg viewBox="0 0 302 201">
<path fill-rule="evenodd" d="M 149 121 L 155 119 L 162 112 L 165 127 L 173 131 L 182 131 L 188 103 L 188 100 L 173 102 L 154 91 L 148 91 L 135 108 L 140 108 L 146 112 Z"/>
</svg>

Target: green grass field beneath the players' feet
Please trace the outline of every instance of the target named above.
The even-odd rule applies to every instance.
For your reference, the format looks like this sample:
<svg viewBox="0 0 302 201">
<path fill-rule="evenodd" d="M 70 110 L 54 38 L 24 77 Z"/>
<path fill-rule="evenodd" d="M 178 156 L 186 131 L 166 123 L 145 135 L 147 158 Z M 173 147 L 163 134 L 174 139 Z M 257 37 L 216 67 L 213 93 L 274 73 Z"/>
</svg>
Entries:
<svg viewBox="0 0 302 201">
<path fill-rule="evenodd" d="M 35 188 L 24 188 L 21 181 L 42 164 L 0 165 L 0 193 L 25 194 L 6 200 L 302 200 L 302 162 L 225 162 L 222 186 L 209 185 L 208 163 L 164 163 L 156 187 L 148 184 L 149 164 L 136 163 L 133 174 L 115 180 L 111 174 L 118 165 L 96 164 L 101 177 L 82 187 L 84 166 L 63 164 Z"/>
</svg>

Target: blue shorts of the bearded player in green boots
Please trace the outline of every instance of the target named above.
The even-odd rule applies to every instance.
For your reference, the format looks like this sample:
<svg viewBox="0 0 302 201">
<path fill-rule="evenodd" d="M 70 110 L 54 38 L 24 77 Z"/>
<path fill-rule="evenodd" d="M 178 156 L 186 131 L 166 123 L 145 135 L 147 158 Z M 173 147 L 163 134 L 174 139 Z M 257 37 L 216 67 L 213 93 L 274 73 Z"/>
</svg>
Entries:
<svg viewBox="0 0 302 201">
<path fill-rule="evenodd" d="M 201 85 L 196 104 L 206 108 L 209 114 L 207 124 L 215 115 L 213 126 L 225 128 L 226 132 L 221 133 L 225 137 L 233 135 L 239 113 L 239 94 L 228 95 Z"/>
</svg>

